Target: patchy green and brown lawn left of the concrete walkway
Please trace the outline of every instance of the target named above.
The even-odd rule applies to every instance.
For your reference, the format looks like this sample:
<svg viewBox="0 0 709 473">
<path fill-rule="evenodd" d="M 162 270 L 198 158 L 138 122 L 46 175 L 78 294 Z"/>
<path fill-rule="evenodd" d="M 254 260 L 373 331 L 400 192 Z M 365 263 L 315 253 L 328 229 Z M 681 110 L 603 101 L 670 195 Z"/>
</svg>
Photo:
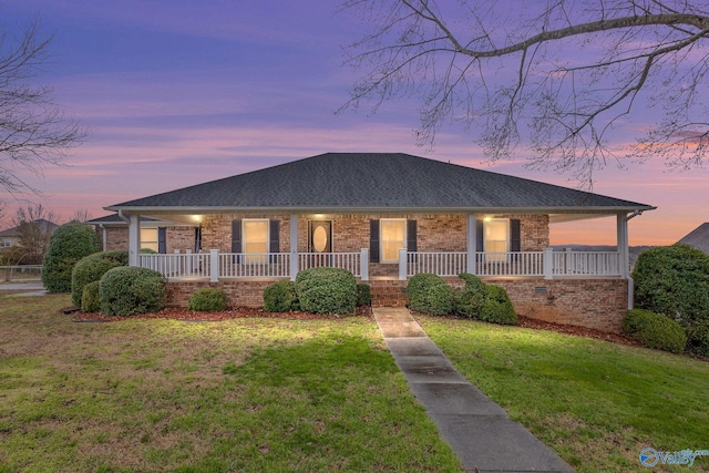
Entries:
<svg viewBox="0 0 709 473">
<path fill-rule="evenodd" d="M 0 299 L 0 471 L 460 471 L 366 318 L 76 323 Z"/>
</svg>

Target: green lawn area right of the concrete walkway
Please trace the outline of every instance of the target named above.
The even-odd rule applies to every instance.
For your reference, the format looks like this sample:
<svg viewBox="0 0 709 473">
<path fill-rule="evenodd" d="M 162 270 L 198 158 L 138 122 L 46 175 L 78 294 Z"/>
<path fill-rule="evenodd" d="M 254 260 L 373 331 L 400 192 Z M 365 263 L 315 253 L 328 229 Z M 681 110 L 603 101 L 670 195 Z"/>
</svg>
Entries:
<svg viewBox="0 0 709 473">
<path fill-rule="evenodd" d="M 549 331 L 419 317 L 467 379 L 580 472 L 640 471 L 645 448 L 709 450 L 709 363 Z M 658 463 L 655 471 L 708 471 Z"/>
</svg>

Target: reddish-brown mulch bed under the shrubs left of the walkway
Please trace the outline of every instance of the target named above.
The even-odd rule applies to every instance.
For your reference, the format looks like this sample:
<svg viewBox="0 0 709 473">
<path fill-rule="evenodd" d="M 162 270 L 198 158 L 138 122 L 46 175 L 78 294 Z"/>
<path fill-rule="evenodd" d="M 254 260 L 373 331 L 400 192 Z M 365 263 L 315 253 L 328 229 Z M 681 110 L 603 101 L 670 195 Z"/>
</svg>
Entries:
<svg viewBox="0 0 709 473">
<path fill-rule="evenodd" d="M 62 311 L 65 309 L 62 309 Z M 60 313 L 62 313 L 60 311 Z M 198 312 L 184 308 L 168 307 L 155 313 L 141 313 L 137 316 L 106 316 L 103 312 L 73 312 L 74 322 L 115 322 L 126 319 L 172 319 L 187 322 L 207 322 L 232 319 L 245 319 L 253 317 L 271 319 L 295 319 L 295 320 L 318 320 L 318 319 L 341 319 L 343 317 L 369 317 L 373 320 L 371 307 L 358 307 L 353 313 L 345 316 L 332 316 L 309 312 L 267 312 L 256 307 L 236 307 L 222 312 Z"/>
</svg>

